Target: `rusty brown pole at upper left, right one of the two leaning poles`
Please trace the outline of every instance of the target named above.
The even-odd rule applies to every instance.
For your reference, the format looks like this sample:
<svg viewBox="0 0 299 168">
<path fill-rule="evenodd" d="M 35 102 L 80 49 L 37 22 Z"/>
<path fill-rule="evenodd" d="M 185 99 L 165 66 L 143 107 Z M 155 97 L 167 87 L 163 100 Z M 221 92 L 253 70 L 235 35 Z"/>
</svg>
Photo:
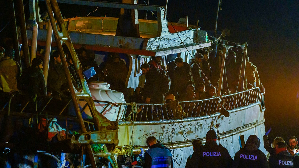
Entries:
<svg viewBox="0 0 299 168">
<path fill-rule="evenodd" d="M 22 48 L 23 54 L 25 58 L 26 68 L 30 67 L 30 55 L 29 55 L 29 47 L 28 47 L 28 38 L 27 38 L 27 30 L 25 23 L 25 12 L 24 12 L 24 4 L 23 0 L 17 0 L 19 7 L 19 18 L 20 18 L 20 27 L 21 27 L 21 36 L 22 36 Z"/>
</svg>

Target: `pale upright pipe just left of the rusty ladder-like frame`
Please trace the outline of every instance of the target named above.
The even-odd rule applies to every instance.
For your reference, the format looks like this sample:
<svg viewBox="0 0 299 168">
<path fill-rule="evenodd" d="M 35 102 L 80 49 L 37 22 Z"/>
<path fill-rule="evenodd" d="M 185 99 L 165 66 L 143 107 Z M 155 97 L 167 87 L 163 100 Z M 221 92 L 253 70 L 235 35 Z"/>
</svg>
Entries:
<svg viewBox="0 0 299 168">
<path fill-rule="evenodd" d="M 48 29 L 47 29 L 47 39 L 46 39 L 46 49 L 45 49 L 45 58 L 44 58 L 44 76 L 45 76 L 45 84 L 47 85 L 48 80 L 48 70 L 50 63 L 50 53 L 51 53 L 51 45 L 52 45 L 52 36 L 53 29 L 50 20 L 48 21 Z"/>
</svg>

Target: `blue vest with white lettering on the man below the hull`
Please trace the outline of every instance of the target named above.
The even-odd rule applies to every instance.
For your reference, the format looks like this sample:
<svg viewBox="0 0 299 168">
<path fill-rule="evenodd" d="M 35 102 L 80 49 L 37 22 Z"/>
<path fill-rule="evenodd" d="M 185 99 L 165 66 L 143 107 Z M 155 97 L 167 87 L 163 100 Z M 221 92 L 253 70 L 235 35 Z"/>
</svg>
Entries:
<svg viewBox="0 0 299 168">
<path fill-rule="evenodd" d="M 172 154 L 169 149 L 151 148 L 146 151 L 152 158 L 151 168 L 170 168 Z"/>
</svg>

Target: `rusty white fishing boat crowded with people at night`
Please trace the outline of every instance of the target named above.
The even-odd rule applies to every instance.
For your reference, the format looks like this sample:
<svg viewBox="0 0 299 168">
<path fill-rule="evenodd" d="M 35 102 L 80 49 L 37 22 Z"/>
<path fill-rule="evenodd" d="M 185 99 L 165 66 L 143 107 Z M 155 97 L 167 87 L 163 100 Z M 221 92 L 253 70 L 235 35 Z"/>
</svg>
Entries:
<svg viewBox="0 0 299 168">
<path fill-rule="evenodd" d="M 71 95 L 64 106 L 74 106 L 75 115 L 62 113 L 65 108 L 62 111 L 54 110 L 52 114 L 48 114 L 46 109 L 48 104 L 51 104 L 53 97 L 45 97 L 47 102 L 45 106 L 37 109 L 33 114 L 23 112 L 25 106 L 20 108 L 20 112 L 11 111 L 9 105 L 13 96 L 10 97 L 8 105 L 2 108 L 1 114 L 8 118 L 31 119 L 31 122 L 24 125 L 31 128 L 37 127 L 40 119 L 45 119 L 48 126 L 49 118 L 56 118 L 57 123 L 66 128 L 66 132 L 70 129 L 70 124 L 74 127 L 77 126 L 77 135 L 66 134 L 66 138 L 57 143 L 63 142 L 65 144 L 63 146 L 56 145 L 55 149 L 39 145 L 32 149 L 30 146 L 32 152 L 26 153 L 25 156 L 34 165 L 38 164 L 37 151 L 39 154 L 52 157 L 51 152 L 60 151 L 61 155 L 60 158 L 57 157 L 57 162 L 65 160 L 65 153 L 81 152 L 81 163 L 85 160 L 83 155 L 86 155 L 86 160 L 89 160 L 91 167 L 96 168 L 97 158 L 104 157 L 109 160 L 112 167 L 116 168 L 118 167 L 118 155 L 140 154 L 143 150 L 148 149 L 146 139 L 149 136 L 155 136 L 172 151 L 174 167 L 178 168 L 184 167 L 187 157 L 192 155 L 192 141 L 200 139 L 205 143 L 205 135 L 210 129 L 216 130 L 218 143 L 227 148 L 231 156 L 244 147 L 247 138 L 252 134 L 263 140 L 265 134 L 264 94 L 258 87 L 244 90 L 247 44 L 239 45 L 243 50 L 242 60 L 244 61 L 241 64 L 239 89 L 236 93 L 223 94 L 222 92 L 225 73 L 224 57 L 221 64 L 219 86 L 216 91 L 217 96 L 205 100 L 179 102 L 183 111 L 189 115 L 185 118 L 176 118 L 167 103 L 146 104 L 117 102 L 104 98 L 96 99 L 91 90 L 101 87 L 101 89 L 109 91 L 109 84 L 98 82 L 88 84 L 86 82 L 75 49 L 84 47 L 93 50 L 98 63 L 103 62 L 103 57 L 109 53 L 120 54 L 129 69 L 125 83 L 126 88 L 136 88 L 143 86 L 145 81 L 144 76 L 141 75 L 140 66 L 142 63 L 149 62 L 151 57 L 162 56 L 161 65 L 166 67 L 167 62 L 174 60 L 176 56 L 188 61 L 193 58 L 196 50 L 213 45 L 215 41 L 208 38 L 205 30 L 200 30 L 198 26 L 167 22 L 165 9 L 161 6 L 92 0 L 45 0 L 45 2 L 49 13 L 48 22 L 43 22 L 40 19 L 38 2 L 32 4 L 35 6 L 34 18 L 39 22 L 33 26 L 32 30 L 26 31 L 28 43 L 33 50 L 30 58 L 35 57 L 36 45 L 45 48 L 44 72 L 46 78 L 50 51 L 58 50 L 60 56 L 64 56 L 62 49 L 64 43 L 74 60 L 74 67 L 80 77 L 82 88 L 74 88 L 67 64 L 62 59 Z M 57 2 L 119 8 L 121 14 L 119 18 L 103 16 L 63 19 Z M 157 20 L 138 19 L 137 11 L 139 10 L 152 11 L 156 14 Z M 128 13 L 129 19 L 126 18 Z M 54 39 L 52 39 L 52 32 Z M 227 55 L 226 52 L 224 55 Z M 30 59 L 28 58 L 28 60 Z M 100 85 L 104 85 L 104 88 Z M 120 100 L 123 95 L 119 94 L 117 97 Z M 106 115 L 109 112 L 113 117 Z M 226 117 L 223 115 L 225 112 L 229 114 L 225 115 Z M 88 117 L 84 117 L 83 113 L 88 114 Z M 9 124 L 3 121 L 1 128 L 7 130 Z M 100 150 L 94 149 L 95 144 L 101 144 Z M 51 143 L 51 145 L 55 144 Z M 13 144 L 3 143 L 2 146 L 9 147 Z M 260 146 L 260 149 L 266 153 L 263 146 Z M 30 167 L 29 164 L 27 166 Z"/>
</svg>

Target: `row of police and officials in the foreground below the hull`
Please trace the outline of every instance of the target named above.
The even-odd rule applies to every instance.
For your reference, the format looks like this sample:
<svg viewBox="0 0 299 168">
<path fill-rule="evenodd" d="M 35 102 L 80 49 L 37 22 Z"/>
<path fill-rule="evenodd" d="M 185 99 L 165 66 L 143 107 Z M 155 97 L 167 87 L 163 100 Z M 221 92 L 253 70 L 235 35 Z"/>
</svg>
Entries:
<svg viewBox="0 0 299 168">
<path fill-rule="evenodd" d="M 225 147 L 217 144 L 217 135 L 213 129 L 207 132 L 205 139 L 205 145 L 202 144 L 201 140 L 193 140 L 193 155 L 188 156 L 185 168 L 299 167 L 298 141 L 294 136 L 289 137 L 286 142 L 283 138 L 276 137 L 270 146 L 268 136 L 264 135 L 264 148 L 270 153 L 269 158 L 267 158 L 265 153 L 259 149 L 260 139 L 256 135 L 250 135 L 245 145 L 235 153 L 234 160 Z M 130 161 L 119 161 L 119 167 L 173 167 L 175 156 L 170 149 L 153 136 L 147 138 L 147 145 L 149 149 L 142 150 L 140 155 L 127 156 Z"/>
</svg>

